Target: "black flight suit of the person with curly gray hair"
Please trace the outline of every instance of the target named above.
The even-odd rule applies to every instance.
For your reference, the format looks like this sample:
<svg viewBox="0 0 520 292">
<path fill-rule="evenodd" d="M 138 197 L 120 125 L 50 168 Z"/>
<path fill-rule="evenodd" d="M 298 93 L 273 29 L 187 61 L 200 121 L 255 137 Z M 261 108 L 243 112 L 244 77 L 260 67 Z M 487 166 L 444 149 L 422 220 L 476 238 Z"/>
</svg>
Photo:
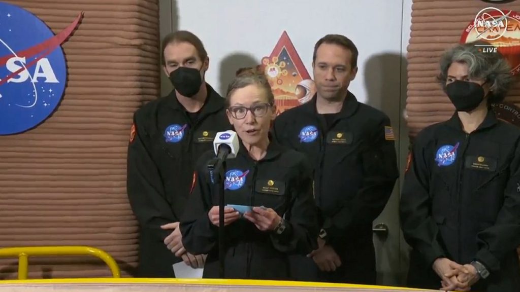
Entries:
<svg viewBox="0 0 520 292">
<path fill-rule="evenodd" d="M 469 135 L 456 113 L 415 138 L 400 201 L 411 287 L 440 288 L 432 264 L 446 257 L 488 269 L 472 291 L 520 291 L 519 142 L 491 110 Z"/>
</svg>

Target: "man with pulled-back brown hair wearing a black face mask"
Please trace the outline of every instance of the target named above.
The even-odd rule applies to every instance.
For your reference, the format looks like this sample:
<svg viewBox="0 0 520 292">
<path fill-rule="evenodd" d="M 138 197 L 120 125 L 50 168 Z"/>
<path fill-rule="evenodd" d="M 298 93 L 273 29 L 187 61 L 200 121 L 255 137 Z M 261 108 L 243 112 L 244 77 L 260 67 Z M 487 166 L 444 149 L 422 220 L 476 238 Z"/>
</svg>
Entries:
<svg viewBox="0 0 520 292">
<path fill-rule="evenodd" d="M 205 255 L 186 252 L 178 222 L 195 185 L 194 164 L 213 149 L 218 131 L 231 128 L 224 98 L 206 84 L 209 58 L 200 39 L 187 31 L 167 35 L 163 70 L 174 86 L 166 97 L 134 114 L 128 145 L 128 199 L 139 222 L 141 277 L 175 277 L 184 260 L 202 268 Z"/>
</svg>

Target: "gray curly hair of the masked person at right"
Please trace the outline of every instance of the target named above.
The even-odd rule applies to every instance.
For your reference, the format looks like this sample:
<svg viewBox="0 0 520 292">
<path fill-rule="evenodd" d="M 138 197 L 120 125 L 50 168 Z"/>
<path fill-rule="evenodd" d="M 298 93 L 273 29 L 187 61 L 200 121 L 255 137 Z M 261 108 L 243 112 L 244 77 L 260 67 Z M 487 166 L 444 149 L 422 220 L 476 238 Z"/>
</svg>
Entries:
<svg viewBox="0 0 520 292">
<path fill-rule="evenodd" d="M 448 68 L 453 62 L 467 64 L 468 75 L 472 79 L 485 79 L 490 85 L 488 103 L 500 102 L 508 93 L 513 76 L 508 61 L 500 52 L 482 52 L 481 46 L 490 44 L 476 41 L 457 45 L 447 50 L 440 58 L 440 74 L 437 79 L 446 92 Z"/>
</svg>

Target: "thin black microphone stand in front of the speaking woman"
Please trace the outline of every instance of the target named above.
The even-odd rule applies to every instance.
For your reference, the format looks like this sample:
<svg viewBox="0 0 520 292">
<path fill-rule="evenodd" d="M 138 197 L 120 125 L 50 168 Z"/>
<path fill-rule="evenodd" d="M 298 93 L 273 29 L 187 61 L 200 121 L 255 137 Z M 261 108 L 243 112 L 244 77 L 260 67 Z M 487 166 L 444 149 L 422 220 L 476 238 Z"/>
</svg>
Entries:
<svg viewBox="0 0 520 292">
<path fill-rule="evenodd" d="M 224 278 L 224 259 L 225 259 L 225 245 L 224 245 L 224 180 L 226 169 L 226 157 L 228 153 L 219 153 L 219 155 L 207 165 L 210 170 L 211 181 L 216 187 L 218 195 L 218 262 L 219 262 L 219 278 Z"/>
</svg>

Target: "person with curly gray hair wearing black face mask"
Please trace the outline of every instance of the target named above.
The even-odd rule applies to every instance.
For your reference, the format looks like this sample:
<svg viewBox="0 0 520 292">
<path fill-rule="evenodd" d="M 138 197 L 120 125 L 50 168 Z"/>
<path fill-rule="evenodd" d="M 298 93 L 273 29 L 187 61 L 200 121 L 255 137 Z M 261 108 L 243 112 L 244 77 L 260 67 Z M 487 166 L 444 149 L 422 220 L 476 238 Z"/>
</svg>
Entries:
<svg viewBox="0 0 520 292">
<path fill-rule="evenodd" d="M 491 110 L 511 69 L 482 45 L 441 57 L 438 80 L 456 112 L 423 129 L 409 155 L 400 216 L 410 287 L 520 291 L 520 129 Z"/>
</svg>

